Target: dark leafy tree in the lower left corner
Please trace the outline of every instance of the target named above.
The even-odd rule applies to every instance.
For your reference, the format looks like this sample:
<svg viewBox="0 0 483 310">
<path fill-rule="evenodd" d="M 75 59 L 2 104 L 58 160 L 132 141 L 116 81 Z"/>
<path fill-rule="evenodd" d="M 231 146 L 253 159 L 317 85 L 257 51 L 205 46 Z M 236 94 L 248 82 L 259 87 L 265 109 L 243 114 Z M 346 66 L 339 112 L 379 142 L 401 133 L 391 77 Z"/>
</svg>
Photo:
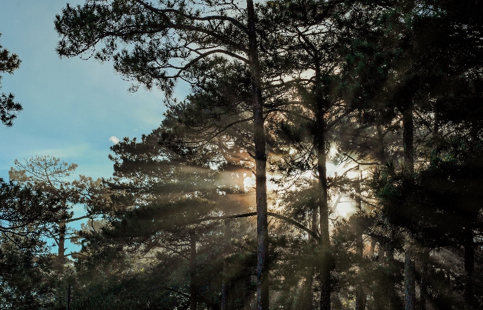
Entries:
<svg viewBox="0 0 483 310">
<path fill-rule="evenodd" d="M 44 239 L 58 213 L 56 197 L 0 179 L 0 300 L 22 307 L 32 290 L 48 286 L 49 248 Z"/>
</svg>

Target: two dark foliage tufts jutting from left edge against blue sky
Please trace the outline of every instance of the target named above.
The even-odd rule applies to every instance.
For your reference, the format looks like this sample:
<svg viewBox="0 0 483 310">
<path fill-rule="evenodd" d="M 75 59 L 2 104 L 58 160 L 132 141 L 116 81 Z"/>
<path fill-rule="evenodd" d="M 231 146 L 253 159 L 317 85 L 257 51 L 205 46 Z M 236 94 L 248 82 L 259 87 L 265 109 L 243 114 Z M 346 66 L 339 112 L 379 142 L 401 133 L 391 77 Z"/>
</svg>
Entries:
<svg viewBox="0 0 483 310">
<path fill-rule="evenodd" d="M 2 34 L 0 33 L 0 36 Z M 20 58 L 17 54 L 12 54 L 6 48 L 0 45 L 0 73 L 13 74 L 15 70 L 20 67 Z M 0 75 L 0 83 L 2 82 L 2 75 Z M 0 88 L 1 88 L 0 84 Z M 0 120 L 7 126 L 13 126 L 13 120 L 17 117 L 16 112 L 22 111 L 22 105 L 14 102 L 15 96 L 2 93 L 0 96 Z"/>
</svg>

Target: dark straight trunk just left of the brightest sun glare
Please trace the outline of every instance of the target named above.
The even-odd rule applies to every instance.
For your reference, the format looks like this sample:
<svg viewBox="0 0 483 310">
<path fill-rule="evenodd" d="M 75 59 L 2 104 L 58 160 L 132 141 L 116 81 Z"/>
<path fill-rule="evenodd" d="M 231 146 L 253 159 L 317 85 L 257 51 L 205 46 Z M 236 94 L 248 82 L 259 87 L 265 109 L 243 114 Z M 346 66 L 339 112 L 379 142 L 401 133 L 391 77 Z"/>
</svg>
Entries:
<svg viewBox="0 0 483 310">
<path fill-rule="evenodd" d="M 326 124 L 322 109 L 316 113 L 315 149 L 317 151 L 318 205 L 320 215 L 320 310 L 331 308 L 331 257 L 329 237 L 329 207 L 326 168 Z"/>
</svg>

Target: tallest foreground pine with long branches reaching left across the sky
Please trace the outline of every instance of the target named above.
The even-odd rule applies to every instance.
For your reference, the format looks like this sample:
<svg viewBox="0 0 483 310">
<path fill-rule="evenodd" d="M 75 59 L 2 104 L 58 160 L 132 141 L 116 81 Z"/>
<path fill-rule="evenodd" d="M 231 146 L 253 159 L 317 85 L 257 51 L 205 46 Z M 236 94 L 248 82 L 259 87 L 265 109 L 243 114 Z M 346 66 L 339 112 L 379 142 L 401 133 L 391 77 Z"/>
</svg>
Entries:
<svg viewBox="0 0 483 310">
<path fill-rule="evenodd" d="M 198 9 L 204 5 L 213 11 L 206 14 Z M 62 16 L 56 16 L 55 28 L 62 36 L 57 48 L 59 55 L 70 57 L 89 51 L 94 54 L 96 45 L 103 41 L 105 47 L 95 53 L 95 58 L 103 61 L 112 57 L 115 69 L 138 86 L 156 86 L 167 94 L 172 92 L 173 79 L 189 79 L 186 72 L 190 66 L 210 55 L 224 55 L 247 64 L 252 81 L 257 175 L 257 298 L 259 309 L 268 309 L 267 157 L 257 36 L 260 27 L 256 19 L 252 0 L 247 1 L 246 10 L 225 2 L 160 1 L 156 7 L 141 0 L 88 1 L 83 7 L 67 6 Z M 133 44 L 134 49 L 118 51 L 117 42 Z"/>
</svg>

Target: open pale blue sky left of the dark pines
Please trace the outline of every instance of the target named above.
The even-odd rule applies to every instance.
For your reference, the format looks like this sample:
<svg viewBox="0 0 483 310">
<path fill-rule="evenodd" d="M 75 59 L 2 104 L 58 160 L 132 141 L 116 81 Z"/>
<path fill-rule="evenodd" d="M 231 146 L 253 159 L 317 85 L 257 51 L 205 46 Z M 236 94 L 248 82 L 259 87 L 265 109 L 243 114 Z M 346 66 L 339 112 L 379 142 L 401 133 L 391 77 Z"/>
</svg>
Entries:
<svg viewBox="0 0 483 310">
<path fill-rule="evenodd" d="M 110 177 L 109 138 L 140 137 L 163 119 L 162 93 L 140 89 L 131 94 L 130 83 L 114 72 L 112 64 L 56 55 L 53 20 L 65 4 L 66 0 L 0 0 L 0 44 L 22 60 L 13 75 L 3 74 L 0 92 L 13 93 L 24 108 L 13 127 L 0 126 L 4 179 L 15 159 L 36 155 L 78 164 L 75 175 Z M 184 89 L 177 92 L 179 98 L 185 94 Z M 82 208 L 76 210 L 76 215 L 81 213 Z"/>
</svg>

